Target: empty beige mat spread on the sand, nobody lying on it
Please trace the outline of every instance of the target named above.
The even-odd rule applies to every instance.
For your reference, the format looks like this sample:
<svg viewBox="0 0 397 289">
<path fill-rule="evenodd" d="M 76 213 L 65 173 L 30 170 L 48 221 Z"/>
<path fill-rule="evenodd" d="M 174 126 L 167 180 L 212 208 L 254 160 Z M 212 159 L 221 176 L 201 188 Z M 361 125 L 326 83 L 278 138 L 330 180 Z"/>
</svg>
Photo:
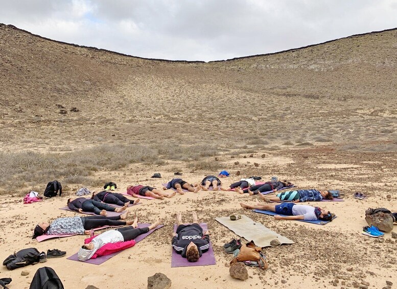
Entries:
<svg viewBox="0 0 397 289">
<path fill-rule="evenodd" d="M 215 218 L 223 226 L 235 232 L 240 237 L 248 241 L 253 241 L 256 246 L 269 247 L 270 242 L 278 239 L 281 244 L 293 244 L 287 237 L 277 234 L 276 232 L 266 228 L 261 223 L 256 223 L 245 215 L 241 215 L 241 219 L 232 221 L 230 217 Z"/>
</svg>

